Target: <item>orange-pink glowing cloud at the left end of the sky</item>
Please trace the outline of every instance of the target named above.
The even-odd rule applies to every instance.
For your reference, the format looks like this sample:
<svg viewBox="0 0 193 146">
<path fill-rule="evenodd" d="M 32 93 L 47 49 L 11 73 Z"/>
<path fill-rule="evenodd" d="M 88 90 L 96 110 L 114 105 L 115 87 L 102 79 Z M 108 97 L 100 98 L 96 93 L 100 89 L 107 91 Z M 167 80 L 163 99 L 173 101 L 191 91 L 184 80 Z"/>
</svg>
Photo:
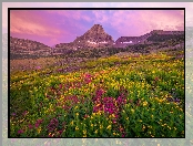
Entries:
<svg viewBox="0 0 193 146">
<path fill-rule="evenodd" d="M 42 36 L 60 34 L 61 31 L 52 27 L 37 11 L 18 11 L 11 10 L 10 13 L 10 32 L 26 33 Z"/>
</svg>

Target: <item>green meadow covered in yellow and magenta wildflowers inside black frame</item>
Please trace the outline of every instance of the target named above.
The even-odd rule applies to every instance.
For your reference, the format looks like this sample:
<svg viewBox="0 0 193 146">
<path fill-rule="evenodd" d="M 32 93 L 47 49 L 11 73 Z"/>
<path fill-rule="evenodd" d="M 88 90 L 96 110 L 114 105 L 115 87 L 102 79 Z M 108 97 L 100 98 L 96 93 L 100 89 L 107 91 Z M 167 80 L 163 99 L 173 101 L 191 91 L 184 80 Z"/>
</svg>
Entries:
<svg viewBox="0 0 193 146">
<path fill-rule="evenodd" d="M 183 58 L 55 62 L 11 73 L 11 136 L 184 137 Z"/>
</svg>

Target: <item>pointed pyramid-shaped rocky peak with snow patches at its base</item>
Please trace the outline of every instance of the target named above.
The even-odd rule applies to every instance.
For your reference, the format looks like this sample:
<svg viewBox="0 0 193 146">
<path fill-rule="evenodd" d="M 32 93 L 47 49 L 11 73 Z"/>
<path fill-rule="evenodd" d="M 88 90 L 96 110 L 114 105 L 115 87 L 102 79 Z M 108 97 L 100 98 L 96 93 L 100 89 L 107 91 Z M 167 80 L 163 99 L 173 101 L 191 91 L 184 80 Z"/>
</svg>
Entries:
<svg viewBox="0 0 193 146">
<path fill-rule="evenodd" d="M 94 24 L 83 35 L 78 36 L 71 43 L 60 43 L 55 45 L 57 50 L 60 49 L 90 49 L 90 48 L 104 48 L 112 46 L 114 43 L 111 35 L 105 33 L 104 29 L 100 24 Z"/>
</svg>

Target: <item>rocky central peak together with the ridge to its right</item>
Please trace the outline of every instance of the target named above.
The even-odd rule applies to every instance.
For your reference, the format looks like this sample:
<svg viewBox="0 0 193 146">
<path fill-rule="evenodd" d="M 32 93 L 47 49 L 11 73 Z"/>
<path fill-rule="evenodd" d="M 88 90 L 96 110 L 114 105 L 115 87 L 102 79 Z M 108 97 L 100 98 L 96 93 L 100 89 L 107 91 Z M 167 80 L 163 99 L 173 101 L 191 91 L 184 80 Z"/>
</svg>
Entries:
<svg viewBox="0 0 193 146">
<path fill-rule="evenodd" d="M 135 44 L 163 43 L 169 40 L 184 41 L 184 31 L 153 30 L 141 36 L 120 36 L 116 41 L 113 41 L 112 36 L 104 32 L 102 25 L 94 24 L 73 42 L 57 44 L 54 52 L 62 53 L 67 50 L 94 48 L 126 48 Z"/>
</svg>

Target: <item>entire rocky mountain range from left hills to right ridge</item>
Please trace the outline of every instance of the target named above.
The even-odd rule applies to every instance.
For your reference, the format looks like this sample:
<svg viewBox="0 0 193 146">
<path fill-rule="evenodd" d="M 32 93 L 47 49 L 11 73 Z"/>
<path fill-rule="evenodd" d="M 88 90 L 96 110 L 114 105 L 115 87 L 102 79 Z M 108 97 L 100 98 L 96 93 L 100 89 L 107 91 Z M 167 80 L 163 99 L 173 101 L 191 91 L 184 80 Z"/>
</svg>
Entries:
<svg viewBox="0 0 193 146">
<path fill-rule="evenodd" d="M 37 41 L 17 39 L 11 36 L 10 56 L 11 59 L 23 59 L 50 55 L 67 55 L 82 50 L 95 53 L 99 49 L 104 49 L 104 54 L 112 54 L 112 52 L 118 53 L 122 50 L 131 52 L 149 52 L 144 50 L 144 48 L 183 48 L 183 44 L 184 31 L 153 30 L 150 33 L 141 36 L 121 36 L 116 41 L 114 41 L 113 38 L 104 31 L 102 25 L 94 24 L 90 30 L 88 30 L 83 35 L 78 36 L 73 42 L 60 43 L 57 44 L 54 48 L 50 48 Z M 106 53 L 105 49 L 106 51 L 110 51 L 111 49 L 116 50 L 111 50 L 111 53 Z"/>
</svg>

